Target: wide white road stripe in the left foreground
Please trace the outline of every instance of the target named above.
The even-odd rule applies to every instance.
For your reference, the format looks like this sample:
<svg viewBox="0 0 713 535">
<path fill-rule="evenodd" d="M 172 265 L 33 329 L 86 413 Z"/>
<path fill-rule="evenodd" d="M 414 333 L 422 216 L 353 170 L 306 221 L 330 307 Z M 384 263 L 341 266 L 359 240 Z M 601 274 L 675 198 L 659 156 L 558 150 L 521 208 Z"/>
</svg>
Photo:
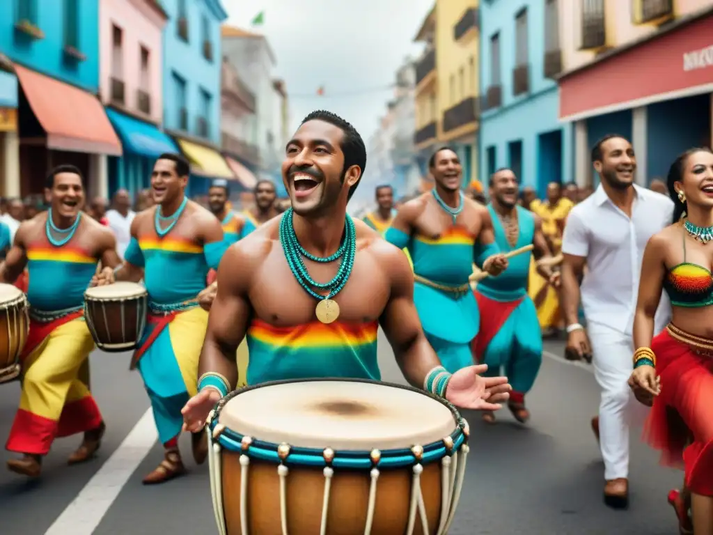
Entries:
<svg viewBox="0 0 713 535">
<path fill-rule="evenodd" d="M 157 440 L 153 413 L 148 409 L 45 535 L 92 535 Z"/>
</svg>

